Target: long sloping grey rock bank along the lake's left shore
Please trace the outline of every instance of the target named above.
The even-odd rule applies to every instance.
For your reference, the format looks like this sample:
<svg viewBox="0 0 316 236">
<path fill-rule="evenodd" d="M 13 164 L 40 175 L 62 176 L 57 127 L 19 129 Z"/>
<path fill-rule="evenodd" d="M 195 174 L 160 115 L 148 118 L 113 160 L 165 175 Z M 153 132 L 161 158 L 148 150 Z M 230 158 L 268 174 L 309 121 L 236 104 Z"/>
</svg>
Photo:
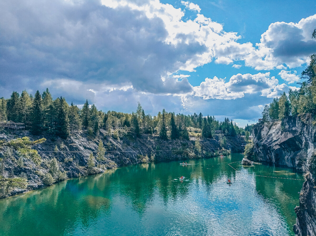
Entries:
<svg viewBox="0 0 316 236">
<path fill-rule="evenodd" d="M 21 158 L 15 152 L 9 158 L 6 158 L 3 175 L 7 178 L 26 178 L 28 186 L 27 189 L 14 189 L 7 193 L 0 192 L 2 197 L 47 186 L 44 179 L 53 158 L 57 159 L 60 171 L 66 173 L 63 178 L 74 178 L 81 175 L 102 173 L 108 168 L 140 162 L 212 157 L 216 151 L 222 150 L 220 146 L 221 135 L 215 136 L 213 139 L 200 139 L 201 150 L 198 151 L 194 146 L 194 137 L 192 137 L 192 140 L 169 139 L 163 141 L 157 136 L 144 134 L 137 139 L 133 137 L 115 139 L 108 131 L 101 130 L 97 137 L 95 135 L 89 136 L 86 132 L 78 132 L 71 134 L 64 140 L 46 134 L 34 136 L 28 131 L 0 133 L 0 139 L 5 140 L 24 136 L 30 137 L 31 140 L 43 137 L 47 139 L 45 143 L 33 147 L 39 151 L 42 162 L 39 166 L 36 166 L 32 161 L 24 158 L 21 163 Z M 232 152 L 243 150 L 241 142 L 244 139 L 241 137 L 227 136 L 226 139 L 225 149 L 231 149 Z M 91 152 L 96 156 L 99 140 L 102 141 L 106 149 L 105 160 L 101 162 L 101 165 L 97 165 L 98 163 L 94 160 L 96 166 L 88 169 L 88 156 Z"/>
</svg>

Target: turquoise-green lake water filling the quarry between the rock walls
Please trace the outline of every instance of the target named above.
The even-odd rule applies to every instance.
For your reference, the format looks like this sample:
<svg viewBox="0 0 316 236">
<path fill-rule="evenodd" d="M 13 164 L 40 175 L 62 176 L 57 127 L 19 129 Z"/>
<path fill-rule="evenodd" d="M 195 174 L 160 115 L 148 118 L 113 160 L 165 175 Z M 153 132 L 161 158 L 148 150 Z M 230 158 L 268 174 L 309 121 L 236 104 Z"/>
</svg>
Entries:
<svg viewBox="0 0 316 236">
<path fill-rule="evenodd" d="M 294 235 L 303 181 L 256 175 L 301 174 L 228 165 L 241 159 L 139 164 L 1 199 L 0 235 Z"/>
</svg>

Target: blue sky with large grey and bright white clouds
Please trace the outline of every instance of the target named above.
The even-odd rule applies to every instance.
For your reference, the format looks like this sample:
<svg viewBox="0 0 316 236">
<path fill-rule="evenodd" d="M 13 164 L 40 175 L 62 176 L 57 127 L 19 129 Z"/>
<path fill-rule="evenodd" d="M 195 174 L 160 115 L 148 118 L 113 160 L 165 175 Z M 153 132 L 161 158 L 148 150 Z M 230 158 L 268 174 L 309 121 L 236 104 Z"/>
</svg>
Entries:
<svg viewBox="0 0 316 236">
<path fill-rule="evenodd" d="M 300 87 L 316 1 L 3 0 L 0 97 L 47 88 L 79 107 L 255 123 Z"/>
</svg>

